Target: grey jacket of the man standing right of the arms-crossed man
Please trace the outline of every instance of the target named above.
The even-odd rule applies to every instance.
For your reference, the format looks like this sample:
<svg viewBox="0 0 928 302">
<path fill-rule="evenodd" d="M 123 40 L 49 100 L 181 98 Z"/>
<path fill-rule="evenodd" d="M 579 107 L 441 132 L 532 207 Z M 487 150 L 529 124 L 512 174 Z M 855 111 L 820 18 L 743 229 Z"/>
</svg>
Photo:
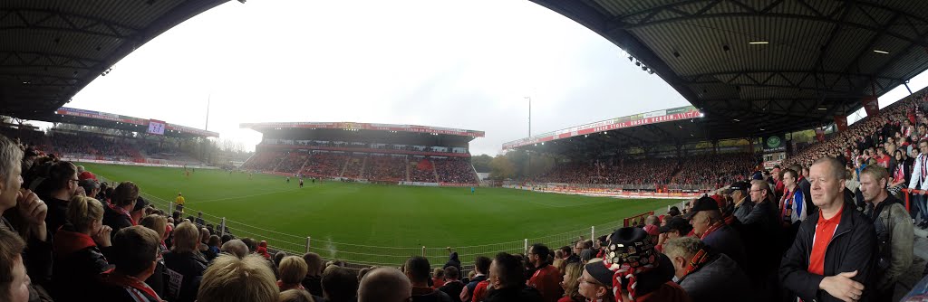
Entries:
<svg viewBox="0 0 928 302">
<path fill-rule="evenodd" d="M 885 289 L 895 284 L 912 265 L 912 245 L 915 235 L 911 220 L 909 220 L 909 211 L 893 195 L 883 200 L 876 210 L 879 212 L 879 219 L 873 219 L 874 208 L 870 205 L 865 215 L 873 219 L 877 243 L 881 245 L 878 255 L 882 256 L 880 258 L 888 256 L 889 259 L 888 263 L 877 264 L 876 288 Z"/>
</svg>

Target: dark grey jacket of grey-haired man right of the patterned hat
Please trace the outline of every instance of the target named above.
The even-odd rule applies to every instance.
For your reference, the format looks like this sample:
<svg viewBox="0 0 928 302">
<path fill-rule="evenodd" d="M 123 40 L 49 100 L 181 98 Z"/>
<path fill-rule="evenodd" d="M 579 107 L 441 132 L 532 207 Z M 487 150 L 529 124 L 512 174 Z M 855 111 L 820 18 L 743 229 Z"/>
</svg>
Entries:
<svg viewBox="0 0 928 302">
<path fill-rule="evenodd" d="M 718 254 L 677 282 L 693 302 L 751 301 L 751 284 L 734 260 Z"/>
</svg>

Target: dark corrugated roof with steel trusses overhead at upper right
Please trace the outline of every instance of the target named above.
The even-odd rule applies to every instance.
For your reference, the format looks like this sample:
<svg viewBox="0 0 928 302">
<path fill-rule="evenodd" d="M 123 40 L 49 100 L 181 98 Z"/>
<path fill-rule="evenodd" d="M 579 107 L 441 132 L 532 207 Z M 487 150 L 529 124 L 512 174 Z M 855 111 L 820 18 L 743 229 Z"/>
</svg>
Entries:
<svg viewBox="0 0 928 302">
<path fill-rule="evenodd" d="M 925 1 L 532 1 L 657 73 L 714 138 L 831 123 L 928 69 Z"/>
</svg>

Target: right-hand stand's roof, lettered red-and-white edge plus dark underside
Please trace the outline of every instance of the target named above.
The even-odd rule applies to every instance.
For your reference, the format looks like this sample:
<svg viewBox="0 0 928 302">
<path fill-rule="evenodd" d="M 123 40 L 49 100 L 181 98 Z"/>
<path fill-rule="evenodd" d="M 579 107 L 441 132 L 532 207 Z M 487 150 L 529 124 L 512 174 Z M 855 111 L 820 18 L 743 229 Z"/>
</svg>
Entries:
<svg viewBox="0 0 928 302">
<path fill-rule="evenodd" d="M 701 121 L 697 124 L 696 120 Z M 671 121 L 683 122 L 658 125 Z M 686 131 L 683 131 L 684 125 Z M 594 138 L 587 140 L 586 143 L 608 142 L 621 145 L 640 145 L 636 143 L 654 145 L 693 140 L 696 139 L 697 134 L 699 134 L 700 139 L 705 139 L 705 132 L 698 126 L 702 126 L 702 112 L 699 109 L 692 106 L 676 107 L 611 120 L 600 120 L 555 132 L 541 133 L 503 144 L 503 150 L 515 149 L 525 145 L 544 145 L 547 142 L 562 141 L 581 135 L 586 138 L 590 134 L 600 133 L 604 135 L 594 135 Z M 613 133 L 612 136 L 608 135 L 610 131 Z"/>
</svg>

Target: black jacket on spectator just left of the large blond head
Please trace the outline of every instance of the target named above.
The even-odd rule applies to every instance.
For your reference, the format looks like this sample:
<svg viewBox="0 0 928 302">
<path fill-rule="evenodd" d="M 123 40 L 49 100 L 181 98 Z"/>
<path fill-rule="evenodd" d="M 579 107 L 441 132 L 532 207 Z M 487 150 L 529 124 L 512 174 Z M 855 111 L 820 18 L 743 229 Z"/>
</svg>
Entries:
<svg viewBox="0 0 928 302">
<path fill-rule="evenodd" d="M 164 253 L 164 299 L 193 302 L 209 262 L 200 253 Z"/>
</svg>

